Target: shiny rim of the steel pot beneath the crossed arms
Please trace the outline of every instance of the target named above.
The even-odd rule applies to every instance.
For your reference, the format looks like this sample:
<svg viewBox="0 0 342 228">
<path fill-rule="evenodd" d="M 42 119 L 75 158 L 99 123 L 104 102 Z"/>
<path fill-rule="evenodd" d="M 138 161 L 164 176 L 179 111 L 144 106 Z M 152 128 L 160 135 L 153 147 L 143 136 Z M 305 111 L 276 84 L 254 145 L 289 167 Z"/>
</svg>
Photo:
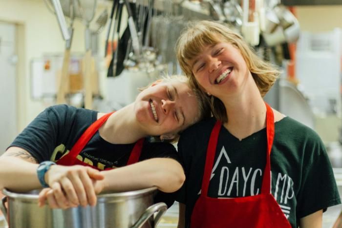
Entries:
<svg viewBox="0 0 342 228">
<path fill-rule="evenodd" d="M 35 189 L 32 191 L 37 191 L 41 189 Z M 104 192 L 97 195 L 98 201 L 106 200 L 107 198 L 110 199 L 122 199 L 122 198 L 134 198 L 134 197 L 141 197 L 143 195 L 146 195 L 148 193 L 152 193 L 155 190 L 157 190 L 157 187 L 148 187 L 144 189 L 139 190 L 133 190 L 133 191 L 126 191 L 126 192 Z M 38 194 L 37 193 L 30 193 L 29 192 L 12 192 L 6 188 L 2 189 L 2 193 L 5 196 L 16 198 L 16 199 L 23 199 L 23 200 L 38 200 Z"/>
</svg>

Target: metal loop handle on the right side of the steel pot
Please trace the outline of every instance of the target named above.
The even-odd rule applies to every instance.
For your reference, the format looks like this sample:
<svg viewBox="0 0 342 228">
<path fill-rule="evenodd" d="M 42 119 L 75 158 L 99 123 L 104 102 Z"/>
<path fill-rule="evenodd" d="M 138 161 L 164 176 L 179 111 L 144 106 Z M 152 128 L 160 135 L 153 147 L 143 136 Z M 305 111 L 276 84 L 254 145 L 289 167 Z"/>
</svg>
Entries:
<svg viewBox="0 0 342 228">
<path fill-rule="evenodd" d="M 157 215 L 154 217 L 154 227 L 157 226 L 159 219 L 166 212 L 168 206 L 165 203 L 157 203 L 150 207 L 148 207 L 145 212 L 140 216 L 138 221 L 131 228 L 141 228 L 144 223 L 155 213 L 158 211 Z"/>
</svg>

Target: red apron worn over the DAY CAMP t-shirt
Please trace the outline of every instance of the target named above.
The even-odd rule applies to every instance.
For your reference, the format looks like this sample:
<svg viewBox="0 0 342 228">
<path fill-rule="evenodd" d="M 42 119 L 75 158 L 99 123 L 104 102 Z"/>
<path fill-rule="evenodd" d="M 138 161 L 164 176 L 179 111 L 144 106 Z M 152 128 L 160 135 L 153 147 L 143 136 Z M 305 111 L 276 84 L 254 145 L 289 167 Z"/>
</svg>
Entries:
<svg viewBox="0 0 342 228">
<path fill-rule="evenodd" d="M 271 192 L 270 153 L 274 139 L 274 115 L 266 104 L 267 158 L 261 193 L 231 199 L 208 197 L 210 176 L 221 123 L 216 122 L 210 136 L 201 195 L 191 216 L 191 228 L 291 228 Z"/>
</svg>

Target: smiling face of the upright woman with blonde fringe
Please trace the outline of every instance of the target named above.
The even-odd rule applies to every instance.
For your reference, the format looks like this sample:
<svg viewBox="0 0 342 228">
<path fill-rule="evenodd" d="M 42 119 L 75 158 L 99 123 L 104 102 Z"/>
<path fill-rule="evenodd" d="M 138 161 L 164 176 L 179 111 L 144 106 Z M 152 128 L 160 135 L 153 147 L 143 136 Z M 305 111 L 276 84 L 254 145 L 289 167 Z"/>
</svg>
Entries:
<svg viewBox="0 0 342 228">
<path fill-rule="evenodd" d="M 205 92 L 221 100 L 241 91 L 251 76 L 240 51 L 227 42 L 206 46 L 189 64 Z"/>
</svg>

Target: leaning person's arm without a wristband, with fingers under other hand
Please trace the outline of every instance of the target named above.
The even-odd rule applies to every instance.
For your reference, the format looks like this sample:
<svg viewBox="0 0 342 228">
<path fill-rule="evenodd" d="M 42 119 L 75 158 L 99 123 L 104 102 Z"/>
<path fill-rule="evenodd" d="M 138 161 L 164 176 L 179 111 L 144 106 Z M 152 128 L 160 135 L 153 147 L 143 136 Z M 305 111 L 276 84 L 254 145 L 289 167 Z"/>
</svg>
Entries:
<svg viewBox="0 0 342 228">
<path fill-rule="evenodd" d="M 56 167 L 58 168 L 58 167 Z M 52 172 L 50 169 L 48 172 Z M 164 192 L 178 190 L 185 180 L 183 167 L 171 158 L 152 158 L 130 166 L 124 166 L 112 170 L 102 171 L 103 180 L 94 181 L 96 193 L 101 191 L 130 191 L 146 187 L 156 186 Z M 50 207 L 68 208 L 79 205 L 75 197 L 68 197 L 68 201 L 61 202 L 63 198 L 58 189 L 45 188 L 39 196 L 39 204 L 42 206 L 45 200 Z"/>
</svg>

